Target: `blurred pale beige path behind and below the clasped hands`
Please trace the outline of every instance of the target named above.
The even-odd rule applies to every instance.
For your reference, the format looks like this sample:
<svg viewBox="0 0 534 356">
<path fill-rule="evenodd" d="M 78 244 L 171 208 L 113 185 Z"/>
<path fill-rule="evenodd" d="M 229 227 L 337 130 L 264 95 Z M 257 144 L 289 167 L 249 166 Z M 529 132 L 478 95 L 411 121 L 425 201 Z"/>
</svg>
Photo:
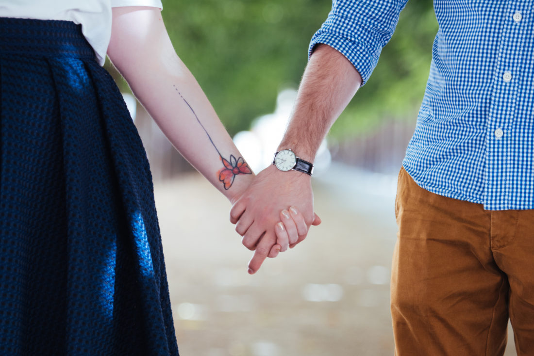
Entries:
<svg viewBox="0 0 534 356">
<path fill-rule="evenodd" d="M 254 276 L 224 196 L 197 174 L 156 185 L 182 356 L 393 354 L 396 177 L 329 172 L 313 180 L 323 224 Z"/>
</svg>

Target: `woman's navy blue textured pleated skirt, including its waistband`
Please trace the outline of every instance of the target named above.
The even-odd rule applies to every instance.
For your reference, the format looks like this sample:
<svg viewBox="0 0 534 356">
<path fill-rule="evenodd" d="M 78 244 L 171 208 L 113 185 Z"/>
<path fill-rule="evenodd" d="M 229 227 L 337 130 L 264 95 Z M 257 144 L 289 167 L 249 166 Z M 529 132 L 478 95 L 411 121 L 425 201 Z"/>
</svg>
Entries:
<svg viewBox="0 0 534 356">
<path fill-rule="evenodd" d="M 80 26 L 0 18 L 0 355 L 177 355 L 143 145 Z"/>
</svg>

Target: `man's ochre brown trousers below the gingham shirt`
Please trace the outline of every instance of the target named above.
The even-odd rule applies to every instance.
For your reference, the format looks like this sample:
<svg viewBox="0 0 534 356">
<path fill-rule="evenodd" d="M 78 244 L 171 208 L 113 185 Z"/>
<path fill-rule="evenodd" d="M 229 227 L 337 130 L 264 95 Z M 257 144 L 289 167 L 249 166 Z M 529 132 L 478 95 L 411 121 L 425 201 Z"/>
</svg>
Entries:
<svg viewBox="0 0 534 356">
<path fill-rule="evenodd" d="M 397 356 L 534 355 L 534 210 L 484 210 L 399 173 L 391 276 Z"/>
</svg>

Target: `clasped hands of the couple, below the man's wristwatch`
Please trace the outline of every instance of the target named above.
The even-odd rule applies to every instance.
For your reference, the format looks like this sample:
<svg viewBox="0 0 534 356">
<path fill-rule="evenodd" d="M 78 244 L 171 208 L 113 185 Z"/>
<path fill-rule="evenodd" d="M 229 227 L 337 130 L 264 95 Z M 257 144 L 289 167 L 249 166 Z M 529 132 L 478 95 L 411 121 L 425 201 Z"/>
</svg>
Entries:
<svg viewBox="0 0 534 356">
<path fill-rule="evenodd" d="M 293 208 L 293 209 L 292 209 Z M 254 274 L 266 257 L 275 257 L 304 240 L 310 225 L 318 225 L 313 213 L 311 177 L 297 171 L 282 172 L 273 165 L 261 171 L 233 204 L 230 221 L 243 236 L 242 243 L 255 250 L 248 264 Z M 284 223 L 284 229 L 279 223 Z M 277 231 L 275 231 L 275 228 Z M 295 234 L 296 230 L 296 234 Z"/>
</svg>

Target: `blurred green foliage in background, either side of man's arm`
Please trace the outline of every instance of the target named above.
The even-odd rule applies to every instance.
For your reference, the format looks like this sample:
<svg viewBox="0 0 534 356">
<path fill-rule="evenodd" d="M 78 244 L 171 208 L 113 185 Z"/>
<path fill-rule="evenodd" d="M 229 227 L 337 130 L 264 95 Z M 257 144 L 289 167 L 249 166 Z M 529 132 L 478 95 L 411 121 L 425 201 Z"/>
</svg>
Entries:
<svg viewBox="0 0 534 356">
<path fill-rule="evenodd" d="M 233 134 L 271 113 L 280 89 L 297 87 L 310 38 L 330 8 L 328 0 L 163 0 L 162 15 L 178 56 Z M 332 135 L 352 136 L 383 118 L 414 117 L 436 30 L 431 1 L 411 0 Z"/>
</svg>

